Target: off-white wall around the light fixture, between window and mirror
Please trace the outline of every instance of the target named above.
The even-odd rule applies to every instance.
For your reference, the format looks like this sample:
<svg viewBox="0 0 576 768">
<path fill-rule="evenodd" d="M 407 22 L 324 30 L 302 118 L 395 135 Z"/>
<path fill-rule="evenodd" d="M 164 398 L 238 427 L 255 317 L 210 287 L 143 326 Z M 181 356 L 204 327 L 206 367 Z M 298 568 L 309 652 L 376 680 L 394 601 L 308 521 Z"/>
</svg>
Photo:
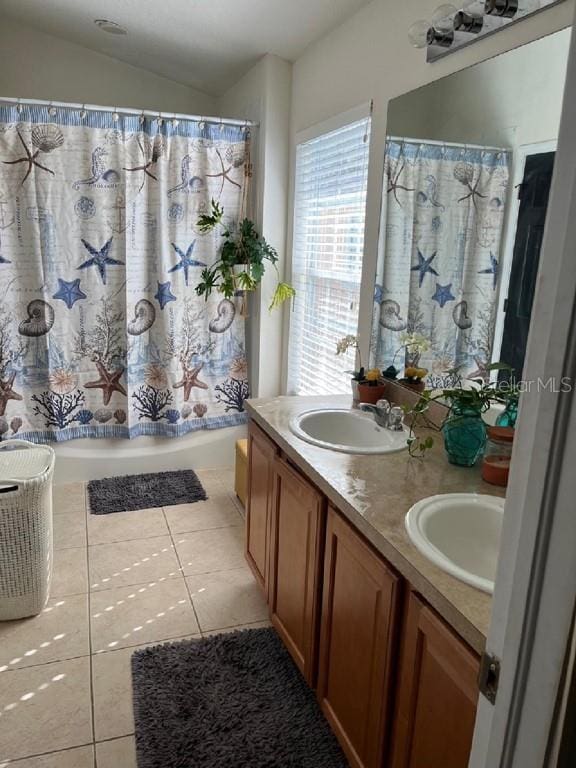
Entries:
<svg viewBox="0 0 576 768">
<path fill-rule="evenodd" d="M 298 131 L 357 104 L 374 100 L 359 324 L 364 359 L 370 339 L 389 100 L 477 61 L 567 27 L 572 23 L 574 13 L 574 0 L 569 0 L 435 64 L 427 64 L 425 52 L 411 48 L 406 33 L 416 19 L 430 18 L 437 5 L 437 0 L 373 0 L 345 24 L 311 45 L 293 68 L 292 168 L 294 137 Z M 288 226 L 291 227 L 290 220 Z"/>
</svg>

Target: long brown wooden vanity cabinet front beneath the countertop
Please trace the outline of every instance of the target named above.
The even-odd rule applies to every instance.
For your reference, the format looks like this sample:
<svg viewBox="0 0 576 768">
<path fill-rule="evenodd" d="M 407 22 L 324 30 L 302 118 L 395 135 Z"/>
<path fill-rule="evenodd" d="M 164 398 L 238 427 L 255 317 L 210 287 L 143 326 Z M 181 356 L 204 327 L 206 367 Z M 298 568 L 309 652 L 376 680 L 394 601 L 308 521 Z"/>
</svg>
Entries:
<svg viewBox="0 0 576 768">
<path fill-rule="evenodd" d="M 466 768 L 478 656 L 253 422 L 248 445 L 246 558 L 352 768 Z"/>
</svg>

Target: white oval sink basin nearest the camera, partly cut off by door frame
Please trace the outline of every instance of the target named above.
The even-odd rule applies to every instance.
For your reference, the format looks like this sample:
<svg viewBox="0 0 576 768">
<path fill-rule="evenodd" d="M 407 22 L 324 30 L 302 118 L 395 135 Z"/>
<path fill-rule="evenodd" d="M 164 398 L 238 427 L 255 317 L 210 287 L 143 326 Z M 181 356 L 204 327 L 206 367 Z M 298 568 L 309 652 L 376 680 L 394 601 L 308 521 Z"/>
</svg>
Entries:
<svg viewBox="0 0 576 768">
<path fill-rule="evenodd" d="M 504 499 L 449 493 L 422 499 L 408 511 L 406 530 L 420 552 L 447 573 L 492 594 Z"/>
</svg>

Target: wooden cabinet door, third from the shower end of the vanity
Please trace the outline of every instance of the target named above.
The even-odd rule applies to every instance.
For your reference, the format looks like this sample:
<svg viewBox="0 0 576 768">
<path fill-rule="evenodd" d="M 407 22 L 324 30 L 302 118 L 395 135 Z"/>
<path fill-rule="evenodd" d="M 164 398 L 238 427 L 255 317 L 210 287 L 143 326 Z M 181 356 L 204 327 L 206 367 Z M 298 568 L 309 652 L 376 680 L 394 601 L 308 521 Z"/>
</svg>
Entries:
<svg viewBox="0 0 576 768">
<path fill-rule="evenodd" d="M 354 768 L 386 764 L 400 586 L 329 508 L 317 696 Z"/>
</svg>

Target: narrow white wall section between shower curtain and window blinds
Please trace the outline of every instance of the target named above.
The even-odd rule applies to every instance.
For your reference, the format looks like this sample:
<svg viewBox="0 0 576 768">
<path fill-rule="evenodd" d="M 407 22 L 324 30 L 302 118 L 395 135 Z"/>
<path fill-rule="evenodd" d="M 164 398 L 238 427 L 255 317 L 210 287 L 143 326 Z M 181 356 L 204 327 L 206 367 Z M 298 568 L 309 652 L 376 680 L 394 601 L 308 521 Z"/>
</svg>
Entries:
<svg viewBox="0 0 576 768">
<path fill-rule="evenodd" d="M 278 250 L 284 272 L 288 210 L 290 96 L 292 65 L 278 56 L 264 56 L 219 101 L 230 117 L 255 120 L 253 215 L 263 236 Z M 281 388 L 283 312 L 269 312 L 276 286 L 273 268 L 250 301 L 248 352 L 253 396 L 277 395 Z"/>
</svg>

